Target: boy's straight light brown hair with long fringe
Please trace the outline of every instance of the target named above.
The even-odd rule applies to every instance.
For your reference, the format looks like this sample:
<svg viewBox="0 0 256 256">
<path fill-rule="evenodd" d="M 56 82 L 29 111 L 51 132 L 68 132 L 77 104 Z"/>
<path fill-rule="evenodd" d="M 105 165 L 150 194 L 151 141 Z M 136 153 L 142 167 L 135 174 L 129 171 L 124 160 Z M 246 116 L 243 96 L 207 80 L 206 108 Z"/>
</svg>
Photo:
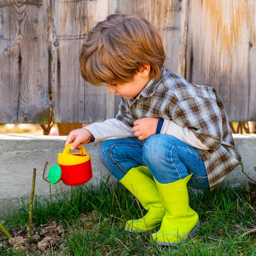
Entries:
<svg viewBox="0 0 256 256">
<path fill-rule="evenodd" d="M 93 85 L 127 83 L 144 65 L 159 80 L 165 60 L 159 31 L 135 14 L 111 14 L 88 33 L 80 50 L 80 73 Z"/>
</svg>

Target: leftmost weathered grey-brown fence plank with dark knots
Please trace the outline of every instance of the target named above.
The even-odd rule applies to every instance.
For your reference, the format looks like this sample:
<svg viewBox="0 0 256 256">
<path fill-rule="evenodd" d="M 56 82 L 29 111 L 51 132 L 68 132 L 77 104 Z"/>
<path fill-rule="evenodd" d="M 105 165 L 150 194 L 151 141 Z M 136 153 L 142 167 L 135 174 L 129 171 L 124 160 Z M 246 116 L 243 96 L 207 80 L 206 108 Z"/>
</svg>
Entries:
<svg viewBox="0 0 256 256">
<path fill-rule="evenodd" d="M 0 122 L 49 117 L 47 1 L 0 1 Z"/>
</svg>

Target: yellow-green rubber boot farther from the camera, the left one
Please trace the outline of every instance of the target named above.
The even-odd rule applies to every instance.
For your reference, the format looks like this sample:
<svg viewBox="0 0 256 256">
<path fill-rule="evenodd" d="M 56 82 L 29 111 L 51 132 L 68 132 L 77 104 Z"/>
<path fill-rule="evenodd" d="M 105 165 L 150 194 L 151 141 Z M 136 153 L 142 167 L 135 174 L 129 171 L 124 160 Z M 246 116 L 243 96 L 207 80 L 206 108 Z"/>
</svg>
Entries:
<svg viewBox="0 0 256 256">
<path fill-rule="evenodd" d="M 161 225 L 165 210 L 162 207 L 155 180 L 146 166 L 131 168 L 120 180 L 148 212 L 138 220 L 128 220 L 126 231 L 141 233 Z"/>
</svg>

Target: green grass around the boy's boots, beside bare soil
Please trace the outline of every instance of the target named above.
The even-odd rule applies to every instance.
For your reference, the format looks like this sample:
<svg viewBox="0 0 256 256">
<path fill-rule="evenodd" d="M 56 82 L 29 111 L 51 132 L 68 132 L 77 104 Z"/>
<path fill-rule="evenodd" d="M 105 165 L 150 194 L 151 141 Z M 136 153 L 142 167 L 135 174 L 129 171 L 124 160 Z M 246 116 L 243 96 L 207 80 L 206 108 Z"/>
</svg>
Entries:
<svg viewBox="0 0 256 256">
<path fill-rule="evenodd" d="M 253 256 L 256 255 L 256 206 L 243 189 L 222 185 L 213 191 L 189 191 L 191 208 L 200 216 L 201 229 L 187 242 L 175 247 L 155 244 L 150 233 L 128 234 L 125 220 L 140 218 L 137 202 L 119 183 L 101 182 L 97 189 L 72 188 L 70 195 L 34 200 L 33 224 L 55 220 L 63 224 L 65 248 L 51 255 L 70 256 Z M 28 205 L 14 211 L 5 227 L 22 227 L 28 221 Z M 33 255 L 0 249 L 0 256 Z M 43 255 L 43 254 L 42 254 Z"/>
</svg>

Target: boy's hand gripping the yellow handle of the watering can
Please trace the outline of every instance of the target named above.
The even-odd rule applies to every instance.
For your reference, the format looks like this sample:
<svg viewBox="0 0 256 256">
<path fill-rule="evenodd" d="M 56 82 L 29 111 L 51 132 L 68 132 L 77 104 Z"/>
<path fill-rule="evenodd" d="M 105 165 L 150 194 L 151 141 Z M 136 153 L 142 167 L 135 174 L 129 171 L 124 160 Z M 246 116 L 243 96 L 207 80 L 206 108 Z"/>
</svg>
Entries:
<svg viewBox="0 0 256 256">
<path fill-rule="evenodd" d="M 91 132 L 84 128 L 72 130 L 70 134 L 67 136 L 66 142 L 65 142 L 65 147 L 72 143 L 72 146 L 70 147 L 71 150 L 74 149 L 80 149 L 81 146 L 78 146 L 79 144 L 87 144 L 89 143 L 93 138 L 93 135 Z"/>
</svg>

